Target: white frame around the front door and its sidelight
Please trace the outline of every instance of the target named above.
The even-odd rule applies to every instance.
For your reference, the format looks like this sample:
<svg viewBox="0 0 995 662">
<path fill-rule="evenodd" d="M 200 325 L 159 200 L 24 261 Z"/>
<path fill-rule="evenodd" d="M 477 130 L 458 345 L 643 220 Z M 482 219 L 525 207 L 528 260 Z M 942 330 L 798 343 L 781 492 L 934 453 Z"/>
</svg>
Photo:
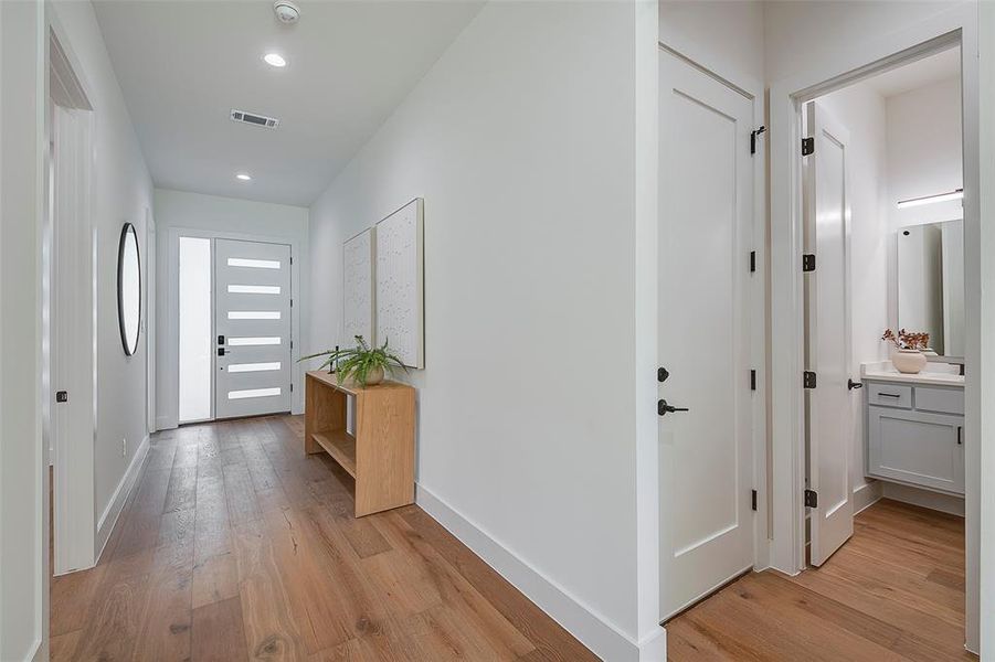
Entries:
<svg viewBox="0 0 995 662">
<path fill-rule="evenodd" d="M 180 237 L 197 237 L 203 239 L 235 239 L 242 242 L 260 242 L 264 244 L 283 244 L 290 247 L 290 298 L 297 305 L 290 307 L 290 378 L 294 392 L 290 394 L 290 413 L 304 413 L 304 367 L 297 362 L 300 359 L 301 337 L 300 331 L 300 263 L 303 247 L 300 242 L 293 237 L 273 235 L 255 235 L 236 232 L 204 229 L 195 227 L 169 227 L 166 234 L 166 245 L 159 246 L 159 257 L 165 257 L 165 265 L 159 265 L 160 279 L 156 292 L 157 305 L 165 306 L 160 309 L 163 316 L 159 321 L 160 338 L 157 349 L 159 351 L 159 366 L 170 366 L 171 370 L 159 370 L 157 427 L 160 430 L 179 427 L 179 362 L 180 362 Z M 213 248 L 213 243 L 212 243 Z M 160 299 L 161 298 L 161 299 Z M 213 301 L 211 303 L 211 323 L 213 327 Z M 213 376 L 213 371 L 212 371 Z M 163 397 L 166 396 L 166 397 Z M 211 399 L 211 417 L 214 416 L 213 383 Z"/>
</svg>

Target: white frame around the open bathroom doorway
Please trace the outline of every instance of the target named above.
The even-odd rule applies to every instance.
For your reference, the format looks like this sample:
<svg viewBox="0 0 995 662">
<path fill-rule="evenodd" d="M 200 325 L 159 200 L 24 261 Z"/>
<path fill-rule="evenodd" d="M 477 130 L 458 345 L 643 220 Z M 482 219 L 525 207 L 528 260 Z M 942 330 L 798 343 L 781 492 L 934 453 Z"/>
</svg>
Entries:
<svg viewBox="0 0 995 662">
<path fill-rule="evenodd" d="M 804 566 L 804 366 L 802 323 L 802 104 L 885 70 L 944 47 L 962 49 L 965 312 L 968 366 L 966 395 L 966 641 L 978 648 L 981 416 L 981 222 L 978 214 L 978 28 L 977 7 L 962 3 L 920 23 L 864 43 L 850 43 L 771 85 L 771 444 L 773 545 L 771 565 L 795 575 Z M 991 446 L 991 442 L 986 442 Z"/>
</svg>

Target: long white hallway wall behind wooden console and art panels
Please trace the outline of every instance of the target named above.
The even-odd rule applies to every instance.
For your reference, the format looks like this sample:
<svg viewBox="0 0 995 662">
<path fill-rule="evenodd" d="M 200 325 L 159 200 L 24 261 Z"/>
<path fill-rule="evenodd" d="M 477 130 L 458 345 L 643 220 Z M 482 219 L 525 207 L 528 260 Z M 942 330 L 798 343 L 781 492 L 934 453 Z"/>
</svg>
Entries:
<svg viewBox="0 0 995 662">
<path fill-rule="evenodd" d="M 425 199 L 420 502 L 611 660 L 644 637 L 634 20 L 488 3 L 310 211 L 320 350 L 342 342 L 342 242 Z"/>
</svg>

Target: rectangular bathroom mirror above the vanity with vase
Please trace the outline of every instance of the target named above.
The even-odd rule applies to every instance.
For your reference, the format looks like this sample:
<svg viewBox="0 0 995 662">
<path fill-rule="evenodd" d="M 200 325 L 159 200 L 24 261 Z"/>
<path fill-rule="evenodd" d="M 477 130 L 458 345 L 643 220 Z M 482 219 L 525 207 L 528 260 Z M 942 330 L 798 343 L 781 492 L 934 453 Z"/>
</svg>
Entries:
<svg viewBox="0 0 995 662">
<path fill-rule="evenodd" d="M 964 355 L 964 222 L 898 229 L 898 325 L 930 334 L 941 356 Z"/>
</svg>

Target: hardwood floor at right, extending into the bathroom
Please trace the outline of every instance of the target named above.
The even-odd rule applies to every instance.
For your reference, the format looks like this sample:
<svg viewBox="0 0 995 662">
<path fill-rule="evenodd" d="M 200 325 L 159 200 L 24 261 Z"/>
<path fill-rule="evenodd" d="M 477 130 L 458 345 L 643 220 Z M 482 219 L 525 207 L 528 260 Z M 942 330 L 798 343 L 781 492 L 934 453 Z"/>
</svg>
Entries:
<svg viewBox="0 0 995 662">
<path fill-rule="evenodd" d="M 977 660 L 964 650 L 964 521 L 895 501 L 822 568 L 753 573 L 667 624 L 674 662 Z"/>
</svg>

